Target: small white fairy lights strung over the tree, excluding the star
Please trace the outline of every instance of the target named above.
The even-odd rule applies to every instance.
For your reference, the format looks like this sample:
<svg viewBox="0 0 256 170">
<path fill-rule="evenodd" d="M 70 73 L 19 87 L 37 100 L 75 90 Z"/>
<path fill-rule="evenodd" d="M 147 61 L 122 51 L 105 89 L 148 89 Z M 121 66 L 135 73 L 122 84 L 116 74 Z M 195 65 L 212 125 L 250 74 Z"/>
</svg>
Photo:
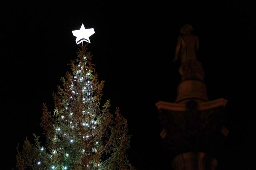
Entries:
<svg viewBox="0 0 256 170">
<path fill-rule="evenodd" d="M 84 56 L 84 65 L 81 66 L 80 64 L 77 65 L 77 71 L 76 71 L 76 75 L 74 75 L 73 77 L 73 81 L 74 82 L 79 82 L 80 84 L 83 85 L 82 87 L 82 92 L 81 94 L 83 95 L 83 104 L 84 104 L 84 110 L 82 110 L 82 115 L 84 115 L 83 117 L 86 117 L 86 114 L 87 115 L 90 115 L 92 117 L 92 119 L 90 120 L 90 122 L 88 122 L 88 119 L 84 118 L 84 122 L 82 123 L 82 125 L 84 126 L 84 128 L 91 128 L 92 130 L 96 129 L 97 127 L 97 120 L 95 120 L 95 110 L 88 107 L 88 106 L 93 106 L 91 105 L 93 102 L 94 102 L 94 98 L 93 98 L 93 86 L 91 84 L 91 77 L 92 77 L 92 71 L 91 70 L 88 70 L 87 69 L 87 61 L 86 61 L 86 56 Z M 85 68 L 85 70 L 87 71 L 85 77 L 84 77 L 84 74 L 83 74 L 83 69 Z M 66 100 L 66 113 L 69 113 L 67 115 L 61 115 L 61 119 L 63 120 L 63 122 L 67 122 L 69 121 L 69 124 L 70 124 L 70 128 L 71 129 L 74 129 L 75 126 L 77 125 L 77 122 L 73 122 L 73 121 L 70 121 L 70 120 L 75 120 L 73 118 L 73 115 L 74 113 L 73 112 L 69 112 L 70 111 L 70 108 L 72 108 L 72 105 L 69 104 L 69 102 L 73 101 L 76 99 L 77 95 L 79 94 L 79 88 L 77 88 L 77 86 L 74 86 L 74 83 L 72 83 L 70 85 L 70 90 L 72 92 L 72 95 L 69 97 L 69 100 Z M 81 89 L 80 89 L 81 90 Z M 87 106 L 87 107 L 86 107 Z M 61 124 L 60 124 L 61 125 Z M 65 124 L 64 124 L 65 125 Z M 53 124 L 53 126 L 55 126 Z M 93 133 L 90 134 L 90 130 L 88 129 L 87 132 L 89 132 L 89 134 L 86 134 L 86 135 L 82 135 L 82 139 L 89 139 L 92 135 L 94 135 Z M 62 135 L 60 135 L 60 133 L 63 133 Z M 64 133 L 64 131 L 62 131 L 62 128 L 60 126 L 56 127 L 56 134 L 54 136 L 54 139 L 53 141 L 55 142 L 58 142 L 59 139 L 58 139 L 58 136 L 64 136 L 65 138 L 69 138 L 69 137 L 72 137 L 72 138 L 69 138 L 68 141 L 70 142 L 70 144 L 74 143 L 75 142 L 75 137 L 73 135 L 70 135 L 70 134 L 66 134 Z M 92 140 L 92 139 L 90 139 Z M 95 145 L 98 145 L 98 141 L 94 141 L 94 144 Z M 59 149 L 54 149 L 52 151 L 52 156 L 54 156 L 57 152 L 59 152 L 62 148 L 59 148 Z M 44 148 L 42 147 L 40 149 L 41 151 L 44 150 Z M 96 148 L 93 148 L 92 149 L 93 152 L 97 152 L 97 149 Z M 86 152 L 85 149 L 82 149 L 81 152 Z M 65 153 L 64 155 L 66 158 L 68 158 L 69 156 L 69 153 Z M 52 157 L 51 157 L 52 158 Z M 37 163 L 38 165 L 41 164 L 41 161 L 38 161 Z M 89 166 L 89 165 L 87 165 Z M 99 164 L 98 164 L 99 166 Z M 52 169 L 55 169 L 57 167 L 57 165 L 52 165 Z M 62 169 L 68 169 L 68 166 L 64 166 Z"/>
</svg>

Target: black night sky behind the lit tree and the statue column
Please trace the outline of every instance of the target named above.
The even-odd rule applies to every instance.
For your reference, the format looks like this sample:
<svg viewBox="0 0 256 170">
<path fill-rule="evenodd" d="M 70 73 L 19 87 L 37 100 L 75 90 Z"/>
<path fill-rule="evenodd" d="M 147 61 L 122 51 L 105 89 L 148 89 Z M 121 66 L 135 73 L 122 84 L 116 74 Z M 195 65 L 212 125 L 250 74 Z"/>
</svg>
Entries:
<svg viewBox="0 0 256 170">
<path fill-rule="evenodd" d="M 240 2 L 240 1 L 239 1 Z M 36 4 L 18 2 L 1 11 L 2 168 L 15 166 L 16 147 L 40 135 L 42 103 L 54 105 L 52 92 L 76 58 L 72 30 L 94 28 L 88 49 L 104 97 L 120 107 L 132 135 L 130 162 L 138 170 L 165 169 L 156 102 L 174 102 L 180 81 L 172 62 L 184 23 L 199 36 L 210 100 L 226 98 L 229 145 L 217 170 L 250 170 L 255 152 L 252 4 L 238 2 L 132 1 Z M 4 38 L 2 38 L 4 37 Z M 4 167 L 4 168 L 3 168 Z"/>
</svg>

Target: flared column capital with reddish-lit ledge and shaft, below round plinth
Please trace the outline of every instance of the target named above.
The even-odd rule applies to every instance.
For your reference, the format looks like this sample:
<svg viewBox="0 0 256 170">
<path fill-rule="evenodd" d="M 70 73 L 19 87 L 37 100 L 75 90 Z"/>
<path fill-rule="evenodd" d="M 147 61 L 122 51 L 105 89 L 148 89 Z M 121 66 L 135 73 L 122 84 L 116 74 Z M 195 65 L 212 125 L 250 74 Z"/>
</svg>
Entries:
<svg viewBox="0 0 256 170">
<path fill-rule="evenodd" d="M 160 135 L 173 158 L 174 170 L 215 170 L 217 160 L 210 155 L 218 158 L 222 140 L 228 135 L 222 119 L 226 103 L 224 98 L 156 103 L 164 127 Z"/>
</svg>

